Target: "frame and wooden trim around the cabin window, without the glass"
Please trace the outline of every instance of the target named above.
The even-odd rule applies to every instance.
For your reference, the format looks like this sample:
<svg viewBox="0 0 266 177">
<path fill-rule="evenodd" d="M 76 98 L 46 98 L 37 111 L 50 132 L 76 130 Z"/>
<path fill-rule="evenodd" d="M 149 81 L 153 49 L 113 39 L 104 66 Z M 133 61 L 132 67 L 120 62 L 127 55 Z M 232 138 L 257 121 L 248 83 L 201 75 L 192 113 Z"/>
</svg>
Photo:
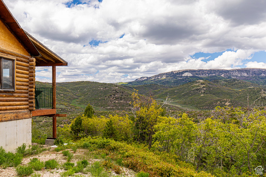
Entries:
<svg viewBox="0 0 266 177">
<path fill-rule="evenodd" d="M 3 83 L 3 59 L 4 60 L 12 60 L 14 62 L 13 69 L 14 69 L 14 79 L 13 79 L 13 85 L 14 89 L 2 89 L 2 83 Z M 0 54 L 0 91 L 1 92 L 15 92 L 16 91 L 16 58 L 4 56 Z"/>
</svg>

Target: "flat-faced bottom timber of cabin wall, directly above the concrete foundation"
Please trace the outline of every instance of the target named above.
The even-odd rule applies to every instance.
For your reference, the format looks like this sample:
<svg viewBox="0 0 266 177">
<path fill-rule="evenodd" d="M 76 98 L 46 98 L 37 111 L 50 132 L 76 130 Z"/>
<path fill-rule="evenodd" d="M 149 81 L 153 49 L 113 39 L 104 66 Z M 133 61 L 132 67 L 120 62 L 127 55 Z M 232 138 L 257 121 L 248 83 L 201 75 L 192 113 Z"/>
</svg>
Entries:
<svg viewBox="0 0 266 177">
<path fill-rule="evenodd" d="M 0 112 L 0 122 L 31 118 L 31 112 L 27 109 Z"/>
</svg>

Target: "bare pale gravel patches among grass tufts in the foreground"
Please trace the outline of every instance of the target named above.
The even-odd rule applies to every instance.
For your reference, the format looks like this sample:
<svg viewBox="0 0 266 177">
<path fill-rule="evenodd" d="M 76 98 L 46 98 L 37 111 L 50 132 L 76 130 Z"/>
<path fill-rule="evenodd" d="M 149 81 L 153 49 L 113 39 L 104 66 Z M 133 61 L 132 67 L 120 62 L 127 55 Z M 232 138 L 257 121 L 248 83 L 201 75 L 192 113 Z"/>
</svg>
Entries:
<svg viewBox="0 0 266 177">
<path fill-rule="evenodd" d="M 40 161 L 47 161 L 49 159 L 55 159 L 57 162 L 59 162 L 59 164 L 63 164 L 66 162 L 66 157 L 63 156 L 63 154 L 61 152 L 56 152 L 53 150 L 54 148 L 51 148 L 51 150 L 47 150 L 47 151 L 44 151 L 38 155 L 33 155 L 33 156 L 30 156 L 30 157 L 26 157 L 26 158 L 23 158 L 22 159 L 22 163 L 20 165 L 27 165 L 28 162 L 30 162 L 30 159 L 31 158 L 38 158 L 40 159 Z M 68 149 L 70 152 L 73 153 L 72 150 Z M 73 155 L 73 159 L 70 161 L 70 162 L 74 162 L 75 165 L 77 165 L 77 161 L 80 161 L 82 160 L 84 157 L 85 159 L 87 159 L 89 161 L 89 163 L 93 163 L 95 161 L 100 161 L 101 159 L 93 159 L 93 156 L 91 155 L 91 157 L 88 155 L 90 154 L 90 152 L 88 150 L 84 150 L 84 149 L 77 149 L 76 153 L 74 153 Z M 128 177 L 134 177 L 135 176 L 135 172 L 128 169 L 128 168 L 122 168 L 123 170 L 123 174 L 122 176 L 128 176 Z M 60 177 L 60 173 L 61 172 L 64 172 L 65 170 L 64 169 L 44 169 L 41 170 L 41 171 L 34 171 L 34 173 L 39 173 L 41 174 L 41 177 L 52 177 L 52 176 L 55 176 L 55 177 Z M 115 174 L 114 171 L 108 171 L 110 176 L 116 176 L 117 174 Z M 33 173 L 33 174 L 34 174 Z M 75 173 L 75 175 L 80 175 L 82 173 Z M 82 174 L 83 176 L 90 176 L 90 174 Z M 7 167 L 5 169 L 3 168 L 0 168 L 0 177 L 8 177 L 8 176 L 17 176 L 16 175 L 16 171 L 15 171 L 15 168 L 14 167 Z M 120 176 L 120 175 L 119 175 Z"/>
</svg>

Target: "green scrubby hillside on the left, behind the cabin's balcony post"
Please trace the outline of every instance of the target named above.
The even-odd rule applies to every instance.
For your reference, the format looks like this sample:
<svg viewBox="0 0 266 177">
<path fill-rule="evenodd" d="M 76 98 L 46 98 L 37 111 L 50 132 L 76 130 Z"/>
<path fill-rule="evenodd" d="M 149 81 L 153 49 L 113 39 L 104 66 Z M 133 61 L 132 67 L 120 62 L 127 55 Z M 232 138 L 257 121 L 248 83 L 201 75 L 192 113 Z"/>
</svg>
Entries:
<svg viewBox="0 0 266 177">
<path fill-rule="evenodd" d="M 36 82 L 36 86 L 51 87 L 51 83 Z M 129 110 L 130 101 L 131 91 L 115 84 L 90 81 L 56 83 L 56 107 L 67 112 L 84 111 L 88 103 L 96 110 Z"/>
</svg>

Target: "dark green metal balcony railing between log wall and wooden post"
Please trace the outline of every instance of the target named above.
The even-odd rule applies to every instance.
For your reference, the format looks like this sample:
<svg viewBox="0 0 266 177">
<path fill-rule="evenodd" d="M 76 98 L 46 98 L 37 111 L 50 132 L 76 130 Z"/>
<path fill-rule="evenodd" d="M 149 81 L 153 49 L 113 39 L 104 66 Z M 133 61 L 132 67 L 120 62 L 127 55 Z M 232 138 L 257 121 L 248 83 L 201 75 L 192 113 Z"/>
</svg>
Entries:
<svg viewBox="0 0 266 177">
<path fill-rule="evenodd" d="M 35 109 L 53 108 L 53 88 L 35 87 Z"/>
</svg>

